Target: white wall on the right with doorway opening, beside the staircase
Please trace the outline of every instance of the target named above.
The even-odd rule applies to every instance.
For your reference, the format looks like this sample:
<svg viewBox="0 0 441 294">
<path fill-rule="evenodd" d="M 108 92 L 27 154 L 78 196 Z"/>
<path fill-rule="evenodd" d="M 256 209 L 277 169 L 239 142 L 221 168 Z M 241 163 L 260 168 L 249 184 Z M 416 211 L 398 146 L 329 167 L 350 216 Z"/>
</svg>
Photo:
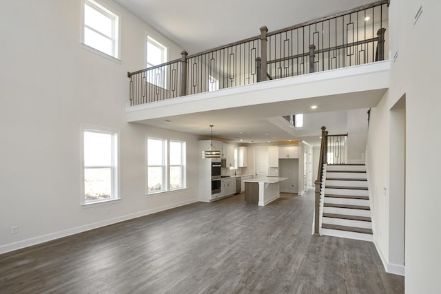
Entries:
<svg viewBox="0 0 441 294">
<path fill-rule="evenodd" d="M 413 17 L 422 5 L 420 19 Z M 369 126 L 369 171 L 373 190 L 374 233 L 380 251 L 389 262 L 389 140 L 392 138 L 390 109 L 406 96 L 405 151 L 405 290 L 406 293 L 439 291 L 441 238 L 439 211 L 439 146 L 441 100 L 439 96 L 439 63 L 427 48 L 440 48 L 441 39 L 433 38 L 433 23 L 441 10 L 439 1 L 391 1 L 391 54 L 398 58 L 391 65 L 391 86 L 373 109 Z M 394 184 L 396 185 L 396 183 Z M 386 187 L 386 195 L 382 188 Z M 384 207 L 382 206 L 384 204 Z M 388 213 L 389 211 L 389 213 Z M 393 223 L 393 222 L 391 222 Z M 381 233 L 380 233 L 380 231 Z"/>
</svg>

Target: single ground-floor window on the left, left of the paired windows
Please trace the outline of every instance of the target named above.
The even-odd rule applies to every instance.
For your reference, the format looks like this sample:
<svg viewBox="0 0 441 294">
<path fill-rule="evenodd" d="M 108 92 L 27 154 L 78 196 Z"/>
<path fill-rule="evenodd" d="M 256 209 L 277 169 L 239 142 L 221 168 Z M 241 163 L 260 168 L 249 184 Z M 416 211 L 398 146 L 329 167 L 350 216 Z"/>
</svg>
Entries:
<svg viewBox="0 0 441 294">
<path fill-rule="evenodd" d="M 117 167 L 118 134 L 83 129 L 83 204 L 119 198 Z"/>
</svg>

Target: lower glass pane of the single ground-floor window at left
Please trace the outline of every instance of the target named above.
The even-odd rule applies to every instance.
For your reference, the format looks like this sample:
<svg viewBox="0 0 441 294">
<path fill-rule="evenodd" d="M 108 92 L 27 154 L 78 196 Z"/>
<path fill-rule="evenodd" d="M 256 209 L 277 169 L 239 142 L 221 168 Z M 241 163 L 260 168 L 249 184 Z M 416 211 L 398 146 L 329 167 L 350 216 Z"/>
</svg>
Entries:
<svg viewBox="0 0 441 294">
<path fill-rule="evenodd" d="M 105 169 L 84 169 L 85 202 L 112 197 L 112 171 Z"/>
</svg>

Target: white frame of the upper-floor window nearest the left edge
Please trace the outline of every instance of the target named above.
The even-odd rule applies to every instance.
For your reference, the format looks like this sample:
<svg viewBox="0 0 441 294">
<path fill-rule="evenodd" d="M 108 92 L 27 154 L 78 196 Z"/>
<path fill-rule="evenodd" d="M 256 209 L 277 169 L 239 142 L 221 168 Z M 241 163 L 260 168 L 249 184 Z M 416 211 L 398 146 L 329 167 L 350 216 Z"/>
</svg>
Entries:
<svg viewBox="0 0 441 294">
<path fill-rule="evenodd" d="M 118 14 L 113 12 L 112 10 L 109 10 L 108 8 L 105 8 L 100 3 L 94 1 L 94 0 L 83 0 L 81 1 L 82 6 L 82 19 L 81 19 L 81 44 L 83 45 L 83 48 L 94 52 L 96 54 L 99 54 L 107 59 L 113 60 L 113 61 L 120 61 L 120 19 Z M 89 6 L 90 8 L 96 10 L 97 12 L 105 15 L 105 17 L 108 17 L 112 21 L 112 36 L 106 36 L 105 34 L 102 34 L 98 30 L 95 30 L 92 27 L 89 27 L 85 24 L 85 6 Z M 100 34 L 101 36 L 105 37 L 106 39 L 110 39 L 112 41 L 112 52 L 111 54 L 107 54 L 106 52 L 103 52 L 99 50 L 98 48 L 92 47 L 92 45 L 85 43 L 85 28 L 89 28 L 90 30 L 96 32 L 97 34 Z"/>
</svg>

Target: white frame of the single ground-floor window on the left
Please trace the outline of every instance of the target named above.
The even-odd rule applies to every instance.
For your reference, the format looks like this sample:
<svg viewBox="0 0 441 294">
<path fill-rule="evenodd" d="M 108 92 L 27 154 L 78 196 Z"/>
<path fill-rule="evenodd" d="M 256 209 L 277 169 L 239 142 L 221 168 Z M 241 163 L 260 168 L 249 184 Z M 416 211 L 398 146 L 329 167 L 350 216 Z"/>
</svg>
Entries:
<svg viewBox="0 0 441 294">
<path fill-rule="evenodd" d="M 85 132 L 97 133 L 97 134 L 110 134 L 112 136 L 111 142 L 111 156 L 112 162 L 110 166 L 86 166 L 85 165 L 85 142 L 84 142 L 84 134 Z M 120 198 L 120 185 L 119 185 L 119 130 L 108 129 L 103 127 L 81 127 L 81 205 L 82 206 L 90 206 L 92 204 L 101 204 L 105 202 L 113 202 L 116 200 L 121 200 Z M 98 199 L 98 200 L 85 200 L 85 169 L 90 168 L 110 168 L 111 172 L 111 197 L 107 199 Z"/>
</svg>

